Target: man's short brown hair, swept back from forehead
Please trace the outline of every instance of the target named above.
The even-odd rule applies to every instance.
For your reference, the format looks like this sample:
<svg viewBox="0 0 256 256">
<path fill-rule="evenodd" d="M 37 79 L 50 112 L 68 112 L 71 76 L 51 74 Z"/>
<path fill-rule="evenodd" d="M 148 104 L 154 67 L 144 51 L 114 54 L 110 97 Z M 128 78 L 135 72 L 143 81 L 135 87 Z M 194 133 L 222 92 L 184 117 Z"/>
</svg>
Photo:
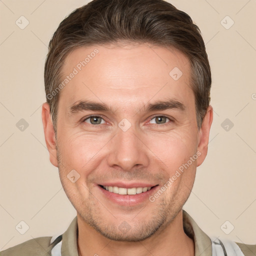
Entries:
<svg viewBox="0 0 256 256">
<path fill-rule="evenodd" d="M 81 46 L 122 41 L 171 46 L 188 57 L 199 128 L 209 106 L 211 71 L 200 30 L 190 16 L 163 0 L 92 0 L 62 20 L 49 42 L 44 85 L 55 131 L 60 93 L 53 91 L 67 54 Z"/>
</svg>

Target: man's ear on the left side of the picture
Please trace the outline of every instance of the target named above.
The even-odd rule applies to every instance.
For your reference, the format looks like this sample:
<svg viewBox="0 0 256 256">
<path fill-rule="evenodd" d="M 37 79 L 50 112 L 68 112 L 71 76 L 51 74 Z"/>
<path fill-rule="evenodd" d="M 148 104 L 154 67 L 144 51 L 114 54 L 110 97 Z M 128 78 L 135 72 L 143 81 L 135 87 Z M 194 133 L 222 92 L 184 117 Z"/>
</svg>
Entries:
<svg viewBox="0 0 256 256">
<path fill-rule="evenodd" d="M 44 138 L 49 151 L 50 162 L 54 166 L 58 167 L 55 132 L 50 116 L 50 107 L 46 102 L 42 104 L 42 123 Z"/>
</svg>

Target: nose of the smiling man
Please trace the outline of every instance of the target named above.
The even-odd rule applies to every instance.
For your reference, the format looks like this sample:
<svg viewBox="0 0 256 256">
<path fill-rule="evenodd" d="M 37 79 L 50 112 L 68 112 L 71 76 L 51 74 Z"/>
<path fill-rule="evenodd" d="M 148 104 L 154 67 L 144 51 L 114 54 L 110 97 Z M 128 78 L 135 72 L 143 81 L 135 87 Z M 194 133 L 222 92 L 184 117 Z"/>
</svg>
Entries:
<svg viewBox="0 0 256 256">
<path fill-rule="evenodd" d="M 132 126 L 126 131 L 118 128 L 117 134 L 109 143 L 107 163 L 110 167 L 130 171 L 148 166 L 149 150 L 139 134 Z"/>
</svg>

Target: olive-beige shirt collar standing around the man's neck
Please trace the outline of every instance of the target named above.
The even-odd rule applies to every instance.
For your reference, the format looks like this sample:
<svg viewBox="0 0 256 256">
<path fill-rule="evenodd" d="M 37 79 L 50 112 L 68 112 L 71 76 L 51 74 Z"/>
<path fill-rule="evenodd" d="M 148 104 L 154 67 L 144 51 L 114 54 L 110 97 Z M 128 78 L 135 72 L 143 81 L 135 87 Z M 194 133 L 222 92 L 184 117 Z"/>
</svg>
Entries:
<svg viewBox="0 0 256 256">
<path fill-rule="evenodd" d="M 184 232 L 194 241 L 195 256 L 211 256 L 211 240 L 199 228 L 191 216 L 182 210 Z M 77 251 L 78 226 L 75 217 L 67 230 L 62 234 L 61 255 L 78 256 Z"/>
</svg>

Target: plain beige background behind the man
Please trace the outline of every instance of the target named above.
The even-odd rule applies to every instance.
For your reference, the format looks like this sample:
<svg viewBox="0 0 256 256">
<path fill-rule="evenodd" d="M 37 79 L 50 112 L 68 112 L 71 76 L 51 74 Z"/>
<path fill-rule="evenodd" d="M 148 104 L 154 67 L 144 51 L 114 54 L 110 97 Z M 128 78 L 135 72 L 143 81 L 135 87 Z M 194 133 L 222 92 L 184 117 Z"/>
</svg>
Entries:
<svg viewBox="0 0 256 256">
<path fill-rule="evenodd" d="M 43 65 L 59 22 L 84 0 L 0 0 L 0 250 L 63 232 L 75 216 L 48 160 Z M 256 243 L 256 1 L 171 0 L 200 27 L 212 68 L 209 151 L 184 209 L 208 234 Z M 21 16 L 29 24 L 20 29 Z M 226 16 L 234 24 L 226 29 Z M 231 24 L 224 19 L 225 26 Z M 24 118 L 29 126 L 20 131 Z M 228 118 L 234 126 L 226 131 Z M 22 235 L 15 226 L 25 221 Z M 220 226 L 228 220 L 227 235 Z M 224 225 L 229 230 L 231 224 Z M 224 229 L 223 229 L 224 230 Z"/>
</svg>

